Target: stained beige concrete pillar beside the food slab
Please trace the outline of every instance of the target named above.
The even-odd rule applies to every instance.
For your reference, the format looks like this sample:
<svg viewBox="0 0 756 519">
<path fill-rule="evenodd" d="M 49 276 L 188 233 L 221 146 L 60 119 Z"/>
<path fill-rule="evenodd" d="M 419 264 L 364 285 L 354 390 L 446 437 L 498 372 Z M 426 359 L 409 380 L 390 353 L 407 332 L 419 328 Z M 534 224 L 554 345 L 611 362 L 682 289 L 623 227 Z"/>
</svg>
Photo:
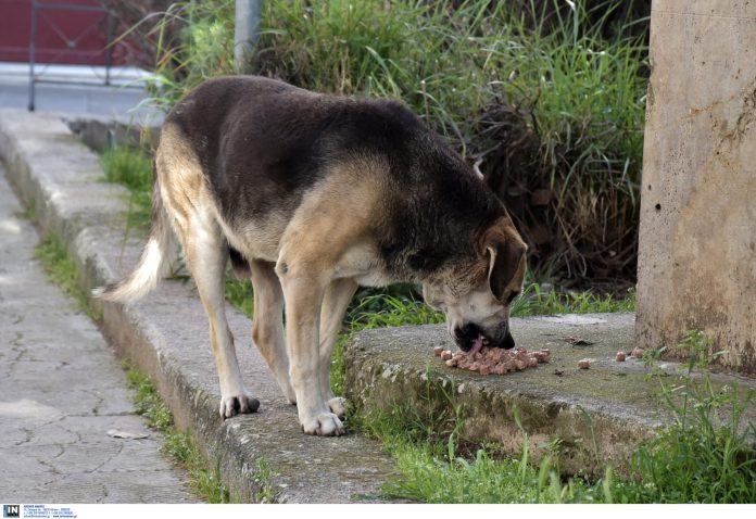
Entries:
<svg viewBox="0 0 756 519">
<path fill-rule="evenodd" d="M 756 374 L 756 2 L 656 0 L 635 340 Z"/>
</svg>

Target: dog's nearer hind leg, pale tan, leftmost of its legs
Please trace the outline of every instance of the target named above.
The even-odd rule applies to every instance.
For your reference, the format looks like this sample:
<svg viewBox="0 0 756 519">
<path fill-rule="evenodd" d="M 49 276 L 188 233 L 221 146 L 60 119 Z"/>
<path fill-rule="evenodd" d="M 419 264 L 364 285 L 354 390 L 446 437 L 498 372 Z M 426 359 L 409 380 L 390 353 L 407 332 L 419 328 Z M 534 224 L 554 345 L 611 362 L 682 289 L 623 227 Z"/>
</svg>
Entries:
<svg viewBox="0 0 756 519">
<path fill-rule="evenodd" d="M 191 216 L 191 233 L 184 232 L 187 267 L 210 320 L 210 343 L 220 382 L 220 416 L 254 413 L 260 402 L 244 388 L 234 347 L 234 337 L 226 320 L 224 278 L 228 245 L 220 227 L 212 216 L 199 211 Z"/>
</svg>

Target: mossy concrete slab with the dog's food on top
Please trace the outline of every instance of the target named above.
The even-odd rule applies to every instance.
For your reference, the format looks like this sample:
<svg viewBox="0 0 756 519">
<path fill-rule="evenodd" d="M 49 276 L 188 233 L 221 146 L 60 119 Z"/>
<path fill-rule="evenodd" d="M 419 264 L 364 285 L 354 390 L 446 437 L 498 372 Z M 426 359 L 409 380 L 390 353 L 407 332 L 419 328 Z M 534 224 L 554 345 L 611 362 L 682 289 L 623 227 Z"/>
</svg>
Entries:
<svg viewBox="0 0 756 519">
<path fill-rule="evenodd" d="M 445 326 L 387 328 L 356 333 L 346 343 L 346 396 L 363 409 L 396 405 L 453 413 L 464 407 L 465 436 L 494 441 L 512 455 L 527 439 L 536 459 L 554 439 L 562 441 L 562 466 L 570 473 L 603 474 L 606 461 L 621 466 L 633 447 L 668 423 L 659 405 L 659 378 L 643 362 L 618 351 L 633 347 L 633 314 L 591 314 L 512 319 L 518 346 L 549 347 L 549 364 L 509 375 L 481 376 L 446 367 L 433 347 L 457 351 Z M 592 359 L 590 369 L 578 360 Z M 656 363 L 662 380 L 680 374 L 677 363 Z M 756 380 L 714 374 L 718 385 L 756 388 Z M 515 408 L 521 429 L 515 421 Z M 453 414 L 452 414 L 453 416 Z M 744 423 L 756 422 L 749 406 Z"/>
</svg>

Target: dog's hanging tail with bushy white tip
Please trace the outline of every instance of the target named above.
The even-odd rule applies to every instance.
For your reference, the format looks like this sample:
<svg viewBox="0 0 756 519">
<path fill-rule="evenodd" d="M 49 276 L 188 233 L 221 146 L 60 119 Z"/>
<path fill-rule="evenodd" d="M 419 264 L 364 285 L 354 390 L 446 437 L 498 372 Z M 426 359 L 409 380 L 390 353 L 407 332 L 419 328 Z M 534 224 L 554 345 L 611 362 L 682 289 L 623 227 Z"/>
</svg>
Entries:
<svg viewBox="0 0 756 519">
<path fill-rule="evenodd" d="M 153 164 L 154 169 L 154 164 Z M 152 185 L 152 225 L 150 238 L 144 245 L 139 263 L 131 274 L 115 283 L 92 290 L 96 298 L 118 303 L 128 303 L 151 292 L 161 278 L 169 274 L 176 256 L 176 239 L 168 215 L 160 195 L 158 175 Z"/>
</svg>

